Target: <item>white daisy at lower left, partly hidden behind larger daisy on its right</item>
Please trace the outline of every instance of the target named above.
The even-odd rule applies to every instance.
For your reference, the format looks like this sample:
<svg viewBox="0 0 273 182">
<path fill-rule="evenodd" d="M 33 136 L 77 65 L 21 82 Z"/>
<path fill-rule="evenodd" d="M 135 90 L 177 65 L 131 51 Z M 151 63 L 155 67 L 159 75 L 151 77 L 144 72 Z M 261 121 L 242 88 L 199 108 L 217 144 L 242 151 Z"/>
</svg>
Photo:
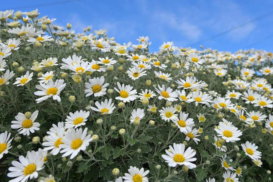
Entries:
<svg viewBox="0 0 273 182">
<path fill-rule="evenodd" d="M 61 150 L 59 146 L 63 144 L 62 139 L 64 134 L 65 134 L 64 128 L 60 128 L 56 132 L 51 132 L 50 135 L 45 138 L 47 142 L 42 143 L 45 146 L 43 150 L 45 151 L 51 150 L 50 153 L 52 155 L 57 155 Z"/>
</svg>

